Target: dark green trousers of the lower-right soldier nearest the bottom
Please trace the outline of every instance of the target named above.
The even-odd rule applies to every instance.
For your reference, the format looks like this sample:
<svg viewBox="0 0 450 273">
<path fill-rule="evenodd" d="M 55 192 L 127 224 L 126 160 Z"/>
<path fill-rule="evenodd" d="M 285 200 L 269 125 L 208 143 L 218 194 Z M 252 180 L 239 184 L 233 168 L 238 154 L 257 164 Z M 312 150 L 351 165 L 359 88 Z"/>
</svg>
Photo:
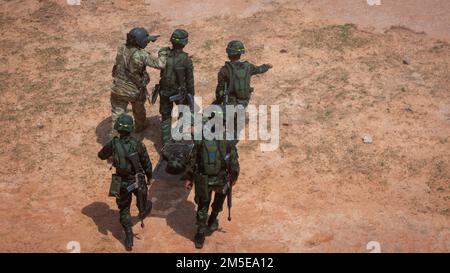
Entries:
<svg viewBox="0 0 450 273">
<path fill-rule="evenodd" d="M 206 187 L 206 188 L 205 188 Z M 206 232 L 208 229 L 208 210 L 214 192 L 211 214 L 218 215 L 223 210 L 226 195 L 222 193 L 223 186 L 208 186 L 203 179 L 195 180 L 195 202 L 197 203 L 197 231 Z"/>
</svg>

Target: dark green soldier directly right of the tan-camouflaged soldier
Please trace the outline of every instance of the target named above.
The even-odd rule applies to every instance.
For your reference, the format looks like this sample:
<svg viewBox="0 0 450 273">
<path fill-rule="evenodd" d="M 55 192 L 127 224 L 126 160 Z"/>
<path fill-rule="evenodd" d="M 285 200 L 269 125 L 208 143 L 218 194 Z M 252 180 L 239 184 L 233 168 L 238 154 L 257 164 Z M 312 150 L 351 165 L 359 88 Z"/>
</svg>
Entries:
<svg viewBox="0 0 450 273">
<path fill-rule="evenodd" d="M 189 96 L 194 97 L 194 68 L 189 55 L 183 51 L 188 44 L 188 32 L 177 29 L 172 33 L 167 64 L 161 70 L 161 80 L 155 87 L 155 94 L 160 95 L 159 113 L 161 114 L 162 144 L 170 138 L 173 103 L 190 104 Z"/>
</svg>

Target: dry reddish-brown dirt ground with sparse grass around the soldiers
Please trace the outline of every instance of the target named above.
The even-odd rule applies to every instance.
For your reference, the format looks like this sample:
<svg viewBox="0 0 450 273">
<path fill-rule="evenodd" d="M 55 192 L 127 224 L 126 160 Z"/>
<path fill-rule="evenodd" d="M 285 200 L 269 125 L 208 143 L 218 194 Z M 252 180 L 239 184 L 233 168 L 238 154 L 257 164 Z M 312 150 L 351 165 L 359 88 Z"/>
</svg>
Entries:
<svg viewBox="0 0 450 273">
<path fill-rule="evenodd" d="M 252 102 L 280 105 L 280 147 L 239 144 L 233 221 L 200 252 L 450 251 L 448 1 L 197 2 L 1 1 L 0 251 L 124 251 L 97 151 L 116 48 L 134 26 L 162 35 L 153 52 L 189 30 L 205 101 L 229 40 L 274 65 Z M 158 109 L 147 110 L 155 164 Z M 197 251 L 193 192 L 158 176 L 150 195 L 134 251 Z"/>
</svg>

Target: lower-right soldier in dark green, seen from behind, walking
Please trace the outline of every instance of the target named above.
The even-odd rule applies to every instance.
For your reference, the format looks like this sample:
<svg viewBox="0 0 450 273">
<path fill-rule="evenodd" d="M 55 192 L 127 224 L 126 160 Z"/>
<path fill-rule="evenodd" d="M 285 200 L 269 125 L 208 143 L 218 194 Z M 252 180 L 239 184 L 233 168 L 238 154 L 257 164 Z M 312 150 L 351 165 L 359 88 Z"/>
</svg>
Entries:
<svg viewBox="0 0 450 273">
<path fill-rule="evenodd" d="M 225 119 L 223 113 L 215 112 L 215 116 Z M 205 129 L 204 129 L 205 130 Z M 225 132 L 223 133 L 225 136 Z M 197 233 L 194 237 L 196 248 L 202 248 L 205 233 L 218 229 L 217 216 L 223 209 L 225 198 L 228 198 L 228 209 L 231 208 L 231 190 L 239 176 L 238 152 L 234 141 L 226 139 L 195 141 L 193 168 L 188 170 L 186 188 L 195 186 L 195 203 L 197 204 Z M 194 182 L 192 182 L 194 180 Z M 211 204 L 211 215 L 208 210 Z M 231 220 L 230 215 L 228 220 Z"/>
</svg>

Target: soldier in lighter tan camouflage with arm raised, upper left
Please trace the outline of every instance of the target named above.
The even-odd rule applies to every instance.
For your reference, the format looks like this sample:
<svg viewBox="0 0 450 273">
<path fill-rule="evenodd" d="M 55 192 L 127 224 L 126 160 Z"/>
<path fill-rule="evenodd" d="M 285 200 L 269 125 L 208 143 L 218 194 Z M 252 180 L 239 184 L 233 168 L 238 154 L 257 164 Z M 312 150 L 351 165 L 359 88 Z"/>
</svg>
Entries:
<svg viewBox="0 0 450 273">
<path fill-rule="evenodd" d="M 150 36 L 144 28 L 134 28 L 127 34 L 127 42 L 118 48 L 113 68 L 113 86 L 111 90 L 112 124 L 126 113 L 131 103 L 136 121 L 136 132 L 146 127 L 145 100 L 150 77 L 146 67 L 163 69 L 166 66 L 168 51 L 161 49 L 158 58 L 144 50 L 158 36 Z"/>
</svg>

